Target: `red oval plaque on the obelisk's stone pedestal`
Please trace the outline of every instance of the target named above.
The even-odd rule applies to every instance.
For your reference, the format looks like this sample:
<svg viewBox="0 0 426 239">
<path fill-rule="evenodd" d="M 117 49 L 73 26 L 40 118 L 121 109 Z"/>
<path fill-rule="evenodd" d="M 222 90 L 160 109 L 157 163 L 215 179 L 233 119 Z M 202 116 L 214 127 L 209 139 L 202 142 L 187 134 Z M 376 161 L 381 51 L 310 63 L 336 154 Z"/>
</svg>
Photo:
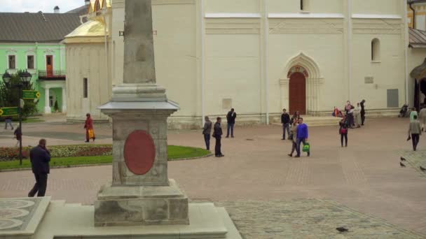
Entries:
<svg viewBox="0 0 426 239">
<path fill-rule="evenodd" d="M 149 133 L 137 130 L 125 140 L 124 160 L 129 170 L 136 175 L 148 173 L 156 159 L 156 145 Z"/>
</svg>

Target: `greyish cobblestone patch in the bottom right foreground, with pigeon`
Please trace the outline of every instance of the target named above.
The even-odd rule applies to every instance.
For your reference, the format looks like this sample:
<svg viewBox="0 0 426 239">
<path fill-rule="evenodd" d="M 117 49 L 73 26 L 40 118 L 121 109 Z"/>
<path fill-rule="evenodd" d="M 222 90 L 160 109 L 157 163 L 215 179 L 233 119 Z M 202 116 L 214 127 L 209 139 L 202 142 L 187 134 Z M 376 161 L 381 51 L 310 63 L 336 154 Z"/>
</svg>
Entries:
<svg viewBox="0 0 426 239">
<path fill-rule="evenodd" d="M 331 200 L 221 201 L 245 239 L 386 238 L 420 239 L 425 236 L 400 229 Z M 339 233 L 337 227 L 347 233 Z"/>
</svg>

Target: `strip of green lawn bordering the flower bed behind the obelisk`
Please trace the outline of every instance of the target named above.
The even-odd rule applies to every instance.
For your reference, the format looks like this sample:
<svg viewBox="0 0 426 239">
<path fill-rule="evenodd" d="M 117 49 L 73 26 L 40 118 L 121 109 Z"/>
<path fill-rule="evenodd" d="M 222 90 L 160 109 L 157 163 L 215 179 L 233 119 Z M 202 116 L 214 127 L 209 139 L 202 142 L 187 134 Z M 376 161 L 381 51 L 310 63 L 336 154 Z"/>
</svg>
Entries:
<svg viewBox="0 0 426 239">
<path fill-rule="evenodd" d="M 169 145 L 168 156 L 169 161 L 188 159 L 195 157 L 203 157 L 210 154 L 209 151 L 197 147 L 182 147 Z M 50 161 L 50 166 L 75 166 L 75 165 L 90 165 L 90 164 L 111 164 L 112 156 L 94 156 L 94 157 L 67 157 L 55 158 Z M 31 168 L 28 159 L 22 160 L 22 166 L 19 165 L 19 160 L 0 161 L 0 171 L 5 169 L 15 168 Z"/>
</svg>

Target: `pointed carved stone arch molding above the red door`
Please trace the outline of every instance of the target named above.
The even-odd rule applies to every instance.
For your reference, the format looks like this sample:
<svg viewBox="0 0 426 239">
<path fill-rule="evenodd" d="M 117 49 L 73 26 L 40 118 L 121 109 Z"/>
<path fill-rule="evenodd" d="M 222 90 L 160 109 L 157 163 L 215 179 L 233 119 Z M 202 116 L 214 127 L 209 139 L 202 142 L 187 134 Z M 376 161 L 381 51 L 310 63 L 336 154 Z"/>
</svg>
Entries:
<svg viewBox="0 0 426 239">
<path fill-rule="evenodd" d="M 321 82 L 323 79 L 320 73 L 320 67 L 318 66 L 317 62 L 313 60 L 311 57 L 308 57 L 307 55 L 305 55 L 303 52 L 300 52 L 298 55 L 296 55 L 295 57 L 292 57 L 291 59 L 289 59 L 289 61 L 287 61 L 285 71 L 281 78 L 282 80 L 289 79 L 287 77 L 288 73 L 289 71 L 291 71 L 291 68 L 293 68 L 294 66 L 302 66 L 303 68 L 306 69 L 306 71 L 308 71 L 307 80 L 315 80 L 315 81 Z"/>
</svg>

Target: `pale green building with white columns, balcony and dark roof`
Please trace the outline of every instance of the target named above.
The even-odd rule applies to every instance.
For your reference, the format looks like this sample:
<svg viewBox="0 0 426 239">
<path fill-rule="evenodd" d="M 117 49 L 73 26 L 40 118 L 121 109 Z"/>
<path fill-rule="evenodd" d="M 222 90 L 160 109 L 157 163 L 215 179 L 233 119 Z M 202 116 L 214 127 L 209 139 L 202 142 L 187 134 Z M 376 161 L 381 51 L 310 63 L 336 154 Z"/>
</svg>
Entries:
<svg viewBox="0 0 426 239">
<path fill-rule="evenodd" d="M 25 70 L 41 94 L 39 113 L 67 111 L 64 36 L 81 20 L 78 13 L 0 13 L 0 74 Z"/>
</svg>

